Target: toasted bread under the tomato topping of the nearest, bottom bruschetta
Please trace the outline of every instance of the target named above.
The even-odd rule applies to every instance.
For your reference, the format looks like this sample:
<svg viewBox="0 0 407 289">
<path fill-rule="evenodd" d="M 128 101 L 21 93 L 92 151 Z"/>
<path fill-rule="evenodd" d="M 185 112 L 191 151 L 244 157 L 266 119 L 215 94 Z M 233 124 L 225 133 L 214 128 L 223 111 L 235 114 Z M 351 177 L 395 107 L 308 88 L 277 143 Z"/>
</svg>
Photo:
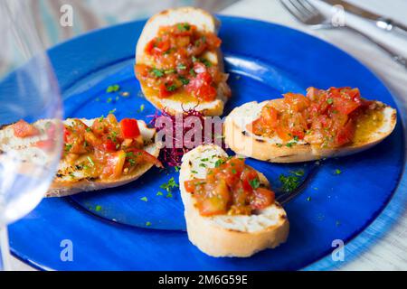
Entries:
<svg viewBox="0 0 407 289">
<path fill-rule="evenodd" d="M 279 203 L 274 203 L 255 215 L 215 215 L 203 217 L 194 206 L 194 197 L 185 191 L 185 181 L 205 178 L 206 168 L 201 159 L 213 160 L 227 154 L 213 144 L 200 145 L 183 157 L 179 183 L 185 207 L 185 220 L 190 241 L 209 256 L 251 256 L 265 248 L 273 248 L 286 241 L 289 220 Z M 269 186 L 266 177 L 259 172 L 260 182 Z"/>
</svg>

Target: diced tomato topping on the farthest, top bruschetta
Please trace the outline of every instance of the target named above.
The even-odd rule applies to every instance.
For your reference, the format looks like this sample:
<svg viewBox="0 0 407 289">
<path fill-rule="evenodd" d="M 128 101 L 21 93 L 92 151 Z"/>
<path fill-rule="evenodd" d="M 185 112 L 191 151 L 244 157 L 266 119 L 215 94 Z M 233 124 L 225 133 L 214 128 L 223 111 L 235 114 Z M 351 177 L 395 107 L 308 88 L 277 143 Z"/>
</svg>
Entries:
<svg viewBox="0 0 407 289">
<path fill-rule="evenodd" d="M 215 34 L 198 31 L 189 23 L 162 26 L 145 48 L 151 64 L 137 63 L 136 77 L 152 90 L 147 93 L 159 98 L 186 92 L 201 101 L 212 101 L 218 91 L 229 97 L 228 75 L 205 54 L 215 52 L 221 43 Z"/>
</svg>

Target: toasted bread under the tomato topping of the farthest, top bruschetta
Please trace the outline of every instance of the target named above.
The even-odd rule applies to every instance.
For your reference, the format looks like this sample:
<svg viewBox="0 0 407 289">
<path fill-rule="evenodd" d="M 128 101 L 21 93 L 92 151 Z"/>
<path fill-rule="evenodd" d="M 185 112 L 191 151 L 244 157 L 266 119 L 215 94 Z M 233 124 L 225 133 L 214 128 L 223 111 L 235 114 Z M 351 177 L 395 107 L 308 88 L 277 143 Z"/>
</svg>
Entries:
<svg viewBox="0 0 407 289">
<path fill-rule="evenodd" d="M 198 31 L 217 33 L 220 22 L 208 12 L 194 7 L 180 7 L 169 9 L 152 16 L 146 23 L 143 32 L 137 42 L 136 63 L 155 66 L 151 58 L 146 54 L 147 43 L 154 39 L 161 26 L 174 25 L 176 23 L 190 23 L 197 27 Z M 211 61 L 213 65 L 223 72 L 222 51 L 218 49 L 214 53 L 207 52 L 204 58 Z M 215 100 L 210 102 L 200 102 L 194 98 L 188 97 L 185 93 L 175 93 L 170 98 L 159 98 L 156 90 L 149 89 L 141 83 L 141 89 L 147 100 L 158 109 L 166 109 L 172 115 L 182 113 L 185 110 L 194 108 L 201 111 L 205 116 L 221 116 L 223 107 L 228 97 L 224 95 L 222 88 L 218 87 L 218 95 Z M 185 98 L 186 101 L 180 99 Z"/>
</svg>

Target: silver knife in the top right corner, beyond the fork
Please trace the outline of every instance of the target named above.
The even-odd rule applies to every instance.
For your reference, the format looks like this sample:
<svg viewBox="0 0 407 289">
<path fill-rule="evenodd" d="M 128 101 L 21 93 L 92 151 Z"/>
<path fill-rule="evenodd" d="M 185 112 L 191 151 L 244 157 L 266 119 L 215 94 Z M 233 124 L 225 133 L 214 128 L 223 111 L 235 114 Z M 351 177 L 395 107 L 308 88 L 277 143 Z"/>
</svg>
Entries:
<svg viewBox="0 0 407 289">
<path fill-rule="evenodd" d="M 400 30 L 402 30 L 403 33 L 407 33 L 406 25 L 393 21 L 390 18 L 386 18 L 381 15 L 374 14 L 373 12 L 369 12 L 367 10 L 364 10 L 363 8 L 352 5 L 343 0 L 323 0 L 323 1 L 330 5 L 342 5 L 346 12 L 350 12 L 352 14 L 357 14 L 364 18 L 370 19 L 370 20 L 374 21 L 374 23 L 376 24 L 377 27 L 379 27 L 385 31 L 393 31 L 393 30 L 400 29 Z"/>
</svg>

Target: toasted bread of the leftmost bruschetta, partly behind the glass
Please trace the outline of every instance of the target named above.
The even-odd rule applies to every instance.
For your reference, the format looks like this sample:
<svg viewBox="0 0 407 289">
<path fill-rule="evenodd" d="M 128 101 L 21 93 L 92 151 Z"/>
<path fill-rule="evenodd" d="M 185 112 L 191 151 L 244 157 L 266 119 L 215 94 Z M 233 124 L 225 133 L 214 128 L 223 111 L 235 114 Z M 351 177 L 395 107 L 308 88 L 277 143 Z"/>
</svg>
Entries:
<svg viewBox="0 0 407 289">
<path fill-rule="evenodd" d="M 94 119 L 80 120 L 88 126 L 91 126 L 94 121 Z M 67 119 L 64 121 L 64 124 L 70 125 L 71 121 L 71 119 Z M 46 124 L 50 122 L 54 124 L 57 123 L 56 120 L 39 120 L 33 123 L 33 126 L 38 128 L 39 130 L 42 130 L 44 129 Z M 143 140 L 145 143 L 145 147 L 143 149 L 147 151 L 147 153 L 157 157 L 160 151 L 160 145 L 154 142 L 156 130 L 154 128 L 148 128 L 144 121 L 138 120 L 137 122 L 140 129 L 140 134 L 143 136 Z M 33 166 L 34 164 L 41 166 L 44 164 L 43 162 L 46 162 L 49 158 L 44 153 L 44 151 L 41 148 L 37 147 L 35 144 L 38 141 L 45 140 L 46 138 L 46 135 L 18 138 L 14 136 L 13 126 L 4 126 L 0 130 L 0 151 L 5 153 L 12 150 L 17 151 L 19 152 L 19 157 L 22 159 L 23 162 L 25 161 L 30 166 Z M 62 197 L 75 194 L 80 191 L 95 191 L 118 187 L 128 182 L 137 180 L 152 166 L 153 163 L 142 163 L 141 165 L 137 166 L 137 168 L 133 172 L 127 175 L 123 175 L 118 180 L 101 181 L 99 179 L 93 180 L 88 178 L 84 172 L 62 160 L 60 161 L 58 166 L 57 176 L 52 182 L 51 188 L 47 191 L 46 196 Z M 27 168 L 25 168 L 24 170 L 24 172 L 28 173 L 29 171 L 30 169 Z M 72 175 L 74 176 L 74 178 L 71 177 Z"/>
</svg>

